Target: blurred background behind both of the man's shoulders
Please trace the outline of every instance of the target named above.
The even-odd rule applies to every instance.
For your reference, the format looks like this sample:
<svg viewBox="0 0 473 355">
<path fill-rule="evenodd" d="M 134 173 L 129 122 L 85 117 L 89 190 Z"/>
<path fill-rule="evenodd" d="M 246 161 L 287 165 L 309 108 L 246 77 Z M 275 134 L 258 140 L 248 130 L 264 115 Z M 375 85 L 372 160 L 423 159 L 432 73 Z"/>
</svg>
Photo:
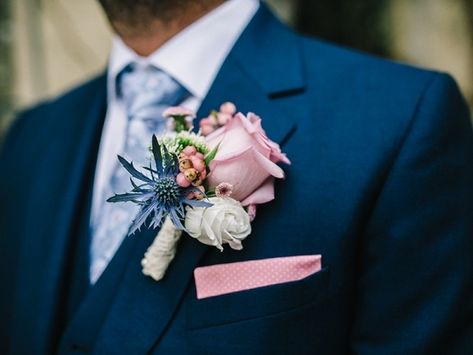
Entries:
<svg viewBox="0 0 473 355">
<path fill-rule="evenodd" d="M 268 0 L 300 32 L 448 71 L 473 107 L 473 0 Z M 25 106 L 106 67 L 96 0 L 0 0 L 0 133 Z"/>
</svg>

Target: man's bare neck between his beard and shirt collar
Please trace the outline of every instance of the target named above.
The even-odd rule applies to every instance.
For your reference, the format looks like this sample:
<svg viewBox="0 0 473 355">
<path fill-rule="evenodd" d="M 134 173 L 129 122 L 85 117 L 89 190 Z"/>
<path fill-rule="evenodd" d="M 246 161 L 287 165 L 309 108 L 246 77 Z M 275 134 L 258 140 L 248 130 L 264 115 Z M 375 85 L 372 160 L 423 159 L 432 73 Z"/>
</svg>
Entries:
<svg viewBox="0 0 473 355">
<path fill-rule="evenodd" d="M 224 0 L 207 1 L 206 5 L 192 3 L 181 15 L 173 20 L 156 19 L 147 26 L 146 31 L 135 31 L 120 22 L 112 23 L 123 42 L 142 57 L 147 57 L 164 43 L 218 7 Z"/>
</svg>

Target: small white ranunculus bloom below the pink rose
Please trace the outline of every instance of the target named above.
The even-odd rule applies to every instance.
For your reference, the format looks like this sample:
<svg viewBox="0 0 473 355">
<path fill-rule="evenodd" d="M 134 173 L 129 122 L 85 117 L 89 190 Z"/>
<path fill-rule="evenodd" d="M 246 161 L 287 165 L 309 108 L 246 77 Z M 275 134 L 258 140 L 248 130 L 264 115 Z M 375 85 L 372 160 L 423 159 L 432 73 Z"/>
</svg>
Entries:
<svg viewBox="0 0 473 355">
<path fill-rule="evenodd" d="M 241 241 L 251 233 L 250 217 L 240 202 L 229 197 L 212 197 L 212 207 L 188 207 L 185 227 L 201 243 L 223 250 L 243 248 Z"/>
</svg>

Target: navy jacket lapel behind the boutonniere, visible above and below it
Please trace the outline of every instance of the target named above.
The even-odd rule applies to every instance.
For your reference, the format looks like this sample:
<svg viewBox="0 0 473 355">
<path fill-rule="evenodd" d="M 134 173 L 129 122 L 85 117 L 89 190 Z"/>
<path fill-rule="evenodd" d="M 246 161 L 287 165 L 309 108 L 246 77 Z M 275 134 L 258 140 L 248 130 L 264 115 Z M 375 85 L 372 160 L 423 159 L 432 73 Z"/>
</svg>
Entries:
<svg viewBox="0 0 473 355">
<path fill-rule="evenodd" d="M 284 44 L 275 47 L 267 42 L 268 38 L 280 38 Z M 288 118 L 289 115 L 274 109 L 277 107 L 274 101 L 304 88 L 295 39 L 262 5 L 222 66 L 198 117 L 206 116 L 224 101 L 233 101 L 242 112 L 251 110 L 260 114 L 269 136 L 279 142 L 286 141 L 295 129 L 295 122 Z M 248 53 L 251 56 L 246 55 Z M 84 349 L 93 347 L 99 353 L 144 354 L 164 334 L 190 285 L 194 268 L 209 248 L 183 235 L 166 276 L 155 282 L 141 273 L 140 261 L 156 233 L 144 230 L 128 238 L 120 248 L 120 256 L 112 262 L 127 266 L 123 274 L 115 275 L 115 295 L 102 299 L 101 312 L 105 318 L 98 337 L 95 337 L 95 332 L 89 332 L 88 337 L 80 339 L 77 333 L 86 324 L 82 322 L 78 322 L 74 327 L 76 331 L 71 332 Z M 133 239 L 134 242 L 131 241 Z M 131 243 L 135 243 L 133 247 L 126 246 Z M 115 274 L 113 267 L 109 269 L 109 273 Z M 102 297 L 99 286 L 91 293 L 96 294 L 97 299 L 91 300 L 89 306 L 84 305 L 82 315 L 79 315 L 84 322 L 88 318 L 85 315 L 94 313 L 91 310 L 97 307 Z M 111 295 L 110 292 L 108 294 Z M 117 342 L 117 339 L 124 337 L 126 342 Z"/>
</svg>

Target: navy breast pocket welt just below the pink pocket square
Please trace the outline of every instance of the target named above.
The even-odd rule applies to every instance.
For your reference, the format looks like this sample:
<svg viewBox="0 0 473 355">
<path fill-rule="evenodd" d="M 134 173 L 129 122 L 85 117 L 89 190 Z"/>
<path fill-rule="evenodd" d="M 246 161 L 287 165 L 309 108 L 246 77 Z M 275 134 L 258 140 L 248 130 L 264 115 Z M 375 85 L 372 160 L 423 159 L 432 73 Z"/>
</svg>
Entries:
<svg viewBox="0 0 473 355">
<path fill-rule="evenodd" d="M 329 269 L 323 268 L 298 281 L 190 300 L 187 327 L 195 330 L 252 320 L 318 303 L 327 295 L 329 280 Z"/>
</svg>

